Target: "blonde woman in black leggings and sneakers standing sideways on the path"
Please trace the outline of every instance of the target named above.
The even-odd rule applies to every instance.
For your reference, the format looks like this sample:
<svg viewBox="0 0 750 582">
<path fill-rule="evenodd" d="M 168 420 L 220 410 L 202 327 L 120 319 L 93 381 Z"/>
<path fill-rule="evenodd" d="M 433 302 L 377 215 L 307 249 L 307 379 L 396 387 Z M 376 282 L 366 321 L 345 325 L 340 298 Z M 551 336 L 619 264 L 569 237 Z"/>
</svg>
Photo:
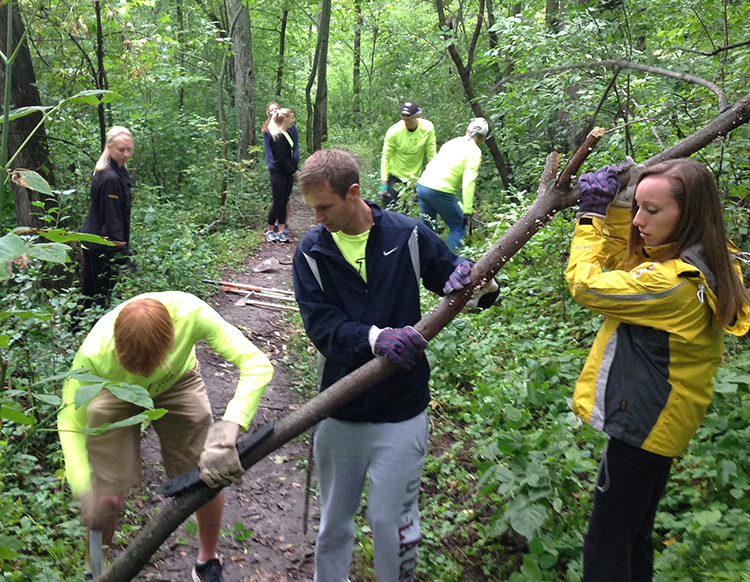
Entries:
<svg viewBox="0 0 750 582">
<path fill-rule="evenodd" d="M 294 140 L 289 135 L 289 129 L 294 125 L 294 113 L 291 109 L 279 109 L 274 112 L 268 123 L 273 164 L 269 168 L 271 174 L 271 192 L 273 201 L 268 211 L 268 231 L 266 241 L 289 242 L 286 228 L 286 213 L 289 195 L 292 193 L 294 176 L 298 171 L 297 160 L 294 158 Z M 265 137 L 265 134 L 264 134 Z M 278 224 L 279 232 L 274 232 L 274 225 Z"/>
</svg>

